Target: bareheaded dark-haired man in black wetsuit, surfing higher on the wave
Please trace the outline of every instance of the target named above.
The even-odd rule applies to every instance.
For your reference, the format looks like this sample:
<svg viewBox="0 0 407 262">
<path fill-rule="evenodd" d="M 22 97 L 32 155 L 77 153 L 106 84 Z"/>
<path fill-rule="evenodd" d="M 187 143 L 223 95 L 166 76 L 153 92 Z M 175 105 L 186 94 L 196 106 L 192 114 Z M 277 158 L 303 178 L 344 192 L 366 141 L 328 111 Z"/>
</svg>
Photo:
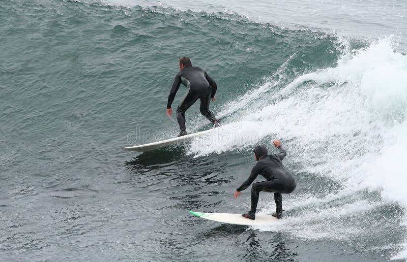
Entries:
<svg viewBox="0 0 407 262">
<path fill-rule="evenodd" d="M 180 72 L 175 76 L 172 88 L 169 91 L 167 103 L 167 115 L 171 117 L 171 104 L 175 99 L 175 95 L 181 83 L 188 88 L 188 93 L 183 97 L 177 107 L 177 120 L 180 125 L 180 135 L 187 135 L 185 127 L 185 111 L 188 110 L 198 99 L 200 99 L 200 113 L 211 121 L 214 126 L 219 126 L 219 120 L 209 110 L 209 103 L 216 100 L 216 82 L 205 72 L 198 67 L 192 67 L 191 60 L 184 56 L 179 61 Z"/>
</svg>

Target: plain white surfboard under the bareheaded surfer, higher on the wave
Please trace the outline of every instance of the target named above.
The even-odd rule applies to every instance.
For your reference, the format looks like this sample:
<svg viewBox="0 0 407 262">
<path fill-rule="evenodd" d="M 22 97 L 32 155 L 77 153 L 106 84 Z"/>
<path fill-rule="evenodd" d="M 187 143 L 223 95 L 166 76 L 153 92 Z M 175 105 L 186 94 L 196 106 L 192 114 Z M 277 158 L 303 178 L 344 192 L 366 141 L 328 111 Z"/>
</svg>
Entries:
<svg viewBox="0 0 407 262">
<path fill-rule="evenodd" d="M 158 142 L 153 142 L 150 144 L 144 144 L 144 145 L 139 145 L 139 146 L 131 146 L 131 147 L 122 147 L 122 149 L 125 150 L 130 150 L 130 151 L 137 151 L 137 152 L 144 152 L 144 151 L 150 151 L 153 149 L 158 149 L 158 148 L 162 148 L 162 147 L 166 147 L 166 146 L 177 146 L 177 145 L 181 145 L 185 142 L 191 141 L 192 139 L 205 135 L 207 133 L 212 132 L 213 130 L 215 130 L 216 128 L 211 128 L 205 131 L 201 131 L 201 132 L 196 132 L 196 133 L 192 133 L 192 134 L 188 134 L 182 137 L 176 137 L 176 138 L 170 138 L 167 140 L 162 140 L 162 141 L 158 141 Z"/>
</svg>

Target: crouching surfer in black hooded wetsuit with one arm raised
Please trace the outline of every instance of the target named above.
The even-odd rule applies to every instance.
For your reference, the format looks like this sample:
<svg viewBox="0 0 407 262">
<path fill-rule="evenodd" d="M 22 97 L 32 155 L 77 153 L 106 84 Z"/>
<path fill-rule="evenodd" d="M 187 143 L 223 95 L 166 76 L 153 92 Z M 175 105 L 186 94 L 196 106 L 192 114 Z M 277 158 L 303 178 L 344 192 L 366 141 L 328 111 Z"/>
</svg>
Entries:
<svg viewBox="0 0 407 262">
<path fill-rule="evenodd" d="M 250 186 L 258 174 L 267 179 L 263 182 L 253 183 L 251 186 L 251 209 L 247 214 L 242 214 L 246 218 L 255 219 L 258 194 L 260 191 L 264 191 L 274 193 L 276 212 L 272 215 L 281 219 L 283 217 L 281 193 L 291 193 L 297 186 L 296 181 L 281 162 L 287 155 L 287 152 L 281 146 L 279 140 L 274 140 L 273 144 L 278 148 L 278 154 L 268 155 L 267 148 L 263 145 L 254 148 L 253 152 L 257 163 L 251 170 L 249 178 L 236 189 L 235 199 L 241 195 L 242 190 Z"/>
</svg>

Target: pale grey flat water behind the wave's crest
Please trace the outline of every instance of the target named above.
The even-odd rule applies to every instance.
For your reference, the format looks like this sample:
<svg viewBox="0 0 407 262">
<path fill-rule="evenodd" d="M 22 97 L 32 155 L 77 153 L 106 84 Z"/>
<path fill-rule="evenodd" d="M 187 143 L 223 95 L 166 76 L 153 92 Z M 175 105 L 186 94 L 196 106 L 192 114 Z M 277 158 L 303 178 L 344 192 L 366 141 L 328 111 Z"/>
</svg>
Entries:
<svg viewBox="0 0 407 262">
<path fill-rule="evenodd" d="M 266 22 L 285 28 L 308 28 L 336 32 L 359 39 L 377 39 L 396 35 L 397 49 L 407 52 L 407 3 L 403 0 L 364 1 L 257 1 L 247 0 L 102 0 L 102 3 L 134 7 L 161 6 L 194 12 L 239 14 L 251 21 Z"/>
</svg>

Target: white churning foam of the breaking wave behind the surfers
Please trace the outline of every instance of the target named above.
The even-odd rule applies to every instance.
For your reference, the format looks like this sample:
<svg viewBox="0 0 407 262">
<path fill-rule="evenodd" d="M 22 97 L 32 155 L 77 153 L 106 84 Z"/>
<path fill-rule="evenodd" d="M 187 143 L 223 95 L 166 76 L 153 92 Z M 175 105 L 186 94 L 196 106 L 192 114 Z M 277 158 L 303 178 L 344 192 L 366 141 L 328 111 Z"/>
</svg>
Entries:
<svg viewBox="0 0 407 262">
<path fill-rule="evenodd" d="M 189 152 L 195 155 L 236 149 L 249 152 L 255 143 L 261 141 L 270 148 L 271 140 L 279 138 L 288 151 L 286 161 L 295 161 L 302 171 L 336 180 L 342 185 L 339 192 L 328 192 L 327 200 L 346 196 L 346 192 L 368 190 L 380 192 L 384 203 L 396 202 L 407 207 L 404 188 L 407 183 L 407 166 L 404 165 L 407 156 L 407 57 L 394 52 L 395 46 L 392 38 L 377 41 L 342 56 L 335 68 L 300 76 L 281 92 L 267 92 L 275 85 L 274 78 L 257 91 L 243 96 L 237 102 L 239 106 L 259 94 L 267 94 L 264 97 L 271 100 L 281 94 L 288 95 L 259 109 L 258 104 L 249 104 L 243 113 L 233 115 L 229 121 L 242 130 L 241 134 L 234 131 L 239 139 L 221 143 L 219 138 L 213 138 L 212 143 L 199 146 L 192 143 Z M 311 84 L 303 84 L 310 80 Z M 245 140 L 245 137 L 250 139 Z M 318 206 L 319 202 L 324 206 L 322 198 L 302 197 L 299 205 L 314 202 Z M 377 206 L 360 201 L 354 204 L 357 208 L 352 212 Z M 312 219 L 323 219 L 331 212 L 352 213 L 348 206 L 337 209 L 321 210 Z M 295 224 L 305 218 L 298 219 L 291 221 Z M 324 230 L 304 223 L 307 228 L 321 231 L 321 234 L 313 235 L 316 237 L 324 237 L 324 234 L 333 237 L 340 231 L 335 228 L 340 224 L 326 225 L 330 226 L 329 230 L 327 227 Z M 407 224 L 407 220 L 403 223 Z M 304 233 L 305 230 L 299 232 L 303 232 L 299 237 L 311 237 Z M 400 256 L 407 257 L 407 251 L 396 257 Z"/>
</svg>

